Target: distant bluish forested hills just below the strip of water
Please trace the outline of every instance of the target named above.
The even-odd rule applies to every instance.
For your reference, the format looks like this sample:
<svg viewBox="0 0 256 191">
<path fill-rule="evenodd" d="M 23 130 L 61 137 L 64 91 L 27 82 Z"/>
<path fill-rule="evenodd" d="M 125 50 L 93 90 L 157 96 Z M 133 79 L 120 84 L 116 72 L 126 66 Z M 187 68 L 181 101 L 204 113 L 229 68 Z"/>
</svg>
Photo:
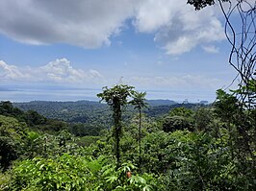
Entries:
<svg viewBox="0 0 256 191">
<path fill-rule="evenodd" d="M 195 104 L 178 104 L 170 100 L 147 100 L 149 107 L 143 112 L 150 117 L 158 117 L 166 114 L 174 107 L 196 107 Z M 81 122 L 93 124 L 112 123 L 112 112 L 106 104 L 94 101 L 77 101 L 77 102 L 49 102 L 33 101 L 28 103 L 13 103 L 14 107 L 22 110 L 36 110 L 43 116 L 52 119 L 63 120 L 65 122 Z M 132 107 L 128 107 L 124 112 L 124 119 L 128 119 L 136 113 Z"/>
</svg>

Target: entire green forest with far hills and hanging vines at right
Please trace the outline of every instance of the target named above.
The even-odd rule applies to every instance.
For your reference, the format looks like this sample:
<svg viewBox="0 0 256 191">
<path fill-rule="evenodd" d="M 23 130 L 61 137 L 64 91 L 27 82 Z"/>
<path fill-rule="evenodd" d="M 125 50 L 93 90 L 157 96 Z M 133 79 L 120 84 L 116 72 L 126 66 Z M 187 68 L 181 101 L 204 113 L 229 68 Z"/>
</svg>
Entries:
<svg viewBox="0 0 256 191">
<path fill-rule="evenodd" d="M 216 2 L 233 34 L 238 90 L 219 89 L 208 107 L 145 109 L 145 93 L 126 84 L 103 88 L 107 105 L 2 102 L 0 190 L 255 190 L 255 4 L 244 12 L 250 1 L 188 0 L 196 10 Z M 237 11 L 242 33 L 230 23 Z"/>
</svg>

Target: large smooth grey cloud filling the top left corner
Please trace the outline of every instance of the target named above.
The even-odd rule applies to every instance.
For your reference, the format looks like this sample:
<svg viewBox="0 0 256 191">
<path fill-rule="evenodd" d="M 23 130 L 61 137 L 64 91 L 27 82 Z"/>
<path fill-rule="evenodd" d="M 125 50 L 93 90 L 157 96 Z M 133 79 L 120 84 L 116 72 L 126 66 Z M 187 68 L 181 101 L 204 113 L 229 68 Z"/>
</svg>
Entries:
<svg viewBox="0 0 256 191">
<path fill-rule="evenodd" d="M 135 0 L 1 0 L 0 33 L 31 44 L 109 45 L 134 11 Z"/>
</svg>

